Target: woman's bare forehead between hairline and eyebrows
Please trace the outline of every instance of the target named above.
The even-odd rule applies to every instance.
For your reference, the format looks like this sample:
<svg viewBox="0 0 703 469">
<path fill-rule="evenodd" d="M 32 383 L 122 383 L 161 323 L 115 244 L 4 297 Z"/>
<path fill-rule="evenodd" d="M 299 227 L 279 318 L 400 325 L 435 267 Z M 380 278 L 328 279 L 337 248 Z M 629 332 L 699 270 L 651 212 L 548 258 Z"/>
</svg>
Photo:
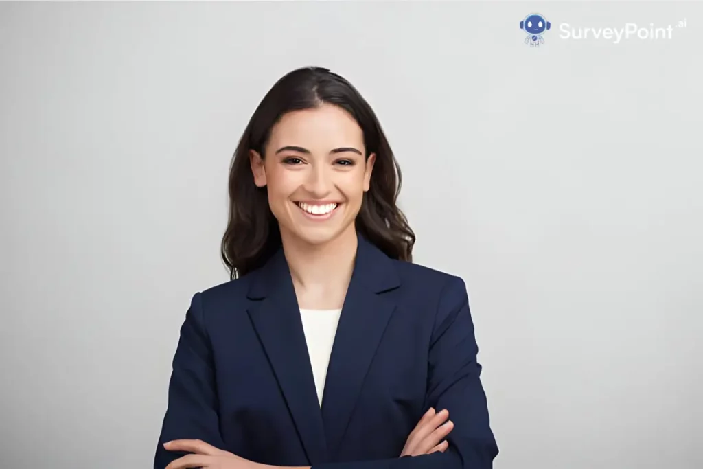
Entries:
<svg viewBox="0 0 703 469">
<path fill-rule="evenodd" d="M 296 110 L 271 129 L 271 143 L 297 146 L 359 146 L 363 131 L 354 117 L 334 105 Z"/>
</svg>

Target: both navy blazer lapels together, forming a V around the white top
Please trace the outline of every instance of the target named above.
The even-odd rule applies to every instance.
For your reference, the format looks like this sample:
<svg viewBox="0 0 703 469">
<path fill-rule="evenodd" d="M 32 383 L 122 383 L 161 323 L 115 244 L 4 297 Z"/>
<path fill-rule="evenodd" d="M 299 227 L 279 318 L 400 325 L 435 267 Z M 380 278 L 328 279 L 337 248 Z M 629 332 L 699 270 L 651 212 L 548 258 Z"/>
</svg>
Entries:
<svg viewBox="0 0 703 469">
<path fill-rule="evenodd" d="M 352 280 L 342 307 L 318 403 L 297 297 L 283 250 L 252 272 L 247 309 L 299 432 L 308 463 L 333 461 L 395 303 L 383 293 L 400 285 L 389 259 L 359 235 Z"/>
</svg>

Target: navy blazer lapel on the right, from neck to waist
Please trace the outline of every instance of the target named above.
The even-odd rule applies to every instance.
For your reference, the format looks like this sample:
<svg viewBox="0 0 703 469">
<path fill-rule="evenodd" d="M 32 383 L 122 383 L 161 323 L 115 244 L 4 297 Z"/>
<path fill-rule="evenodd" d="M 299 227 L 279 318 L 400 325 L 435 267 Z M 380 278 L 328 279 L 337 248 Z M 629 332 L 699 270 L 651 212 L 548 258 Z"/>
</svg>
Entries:
<svg viewBox="0 0 703 469">
<path fill-rule="evenodd" d="M 342 307 L 322 399 L 328 456 L 334 458 L 359 399 L 366 372 L 395 304 L 383 295 L 399 278 L 389 259 L 362 236 Z"/>
</svg>

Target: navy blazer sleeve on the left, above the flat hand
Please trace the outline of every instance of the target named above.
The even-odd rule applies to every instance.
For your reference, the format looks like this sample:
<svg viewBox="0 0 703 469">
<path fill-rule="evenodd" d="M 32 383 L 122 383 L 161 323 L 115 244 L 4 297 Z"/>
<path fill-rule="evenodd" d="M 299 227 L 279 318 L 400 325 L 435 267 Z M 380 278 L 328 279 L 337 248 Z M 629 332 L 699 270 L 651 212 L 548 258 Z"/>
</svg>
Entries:
<svg viewBox="0 0 703 469">
<path fill-rule="evenodd" d="M 224 448 L 219 432 L 212 348 L 202 319 L 200 293 L 193 296 L 181 326 L 154 469 L 164 469 L 171 461 L 187 454 L 163 447 L 173 439 L 201 439 Z"/>
</svg>

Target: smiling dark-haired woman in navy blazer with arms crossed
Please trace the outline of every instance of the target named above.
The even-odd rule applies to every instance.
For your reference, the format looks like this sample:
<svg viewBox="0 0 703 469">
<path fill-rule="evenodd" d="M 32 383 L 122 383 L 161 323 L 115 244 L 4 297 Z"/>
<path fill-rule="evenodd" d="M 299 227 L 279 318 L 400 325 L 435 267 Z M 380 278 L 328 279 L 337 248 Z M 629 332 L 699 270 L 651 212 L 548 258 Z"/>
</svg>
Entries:
<svg viewBox="0 0 703 469">
<path fill-rule="evenodd" d="M 411 263 L 400 182 L 339 75 L 266 94 L 229 177 L 232 280 L 188 309 L 155 468 L 491 468 L 465 285 Z"/>
</svg>

